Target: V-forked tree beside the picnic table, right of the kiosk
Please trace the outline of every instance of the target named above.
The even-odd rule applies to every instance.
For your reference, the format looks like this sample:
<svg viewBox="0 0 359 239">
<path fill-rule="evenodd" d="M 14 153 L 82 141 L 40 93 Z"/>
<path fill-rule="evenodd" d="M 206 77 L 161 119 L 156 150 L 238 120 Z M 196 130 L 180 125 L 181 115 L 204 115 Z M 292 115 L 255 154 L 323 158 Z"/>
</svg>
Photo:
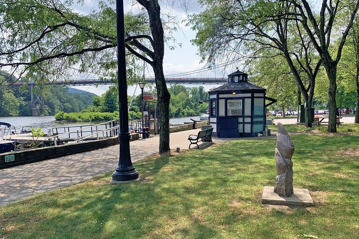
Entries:
<svg viewBox="0 0 359 239">
<path fill-rule="evenodd" d="M 336 132 L 336 75 L 337 65 L 342 55 L 342 50 L 348 37 L 349 31 L 353 26 L 354 19 L 358 12 L 359 0 L 322 0 L 319 13 L 316 7 L 310 5 L 307 0 L 285 0 L 292 3 L 296 11 L 293 18 L 300 22 L 306 31 L 311 43 L 320 55 L 324 68 L 329 79 L 329 126 L 328 132 Z M 333 44 L 332 34 L 334 25 L 338 24 L 339 15 L 344 15 L 346 21 L 342 21 L 340 30 L 341 36 L 337 37 L 339 45 L 337 51 L 331 53 L 329 47 Z"/>
</svg>

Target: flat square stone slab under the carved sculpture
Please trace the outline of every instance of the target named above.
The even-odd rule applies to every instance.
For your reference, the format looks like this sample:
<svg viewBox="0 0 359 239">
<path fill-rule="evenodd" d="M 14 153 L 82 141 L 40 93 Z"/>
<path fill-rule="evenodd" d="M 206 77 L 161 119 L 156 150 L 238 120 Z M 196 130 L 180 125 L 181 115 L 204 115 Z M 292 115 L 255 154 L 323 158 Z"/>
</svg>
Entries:
<svg viewBox="0 0 359 239">
<path fill-rule="evenodd" d="M 308 189 L 293 188 L 294 194 L 291 197 L 279 196 L 274 191 L 274 187 L 265 186 L 263 188 L 262 203 L 286 206 L 310 206 L 313 205 L 312 197 Z"/>
</svg>

